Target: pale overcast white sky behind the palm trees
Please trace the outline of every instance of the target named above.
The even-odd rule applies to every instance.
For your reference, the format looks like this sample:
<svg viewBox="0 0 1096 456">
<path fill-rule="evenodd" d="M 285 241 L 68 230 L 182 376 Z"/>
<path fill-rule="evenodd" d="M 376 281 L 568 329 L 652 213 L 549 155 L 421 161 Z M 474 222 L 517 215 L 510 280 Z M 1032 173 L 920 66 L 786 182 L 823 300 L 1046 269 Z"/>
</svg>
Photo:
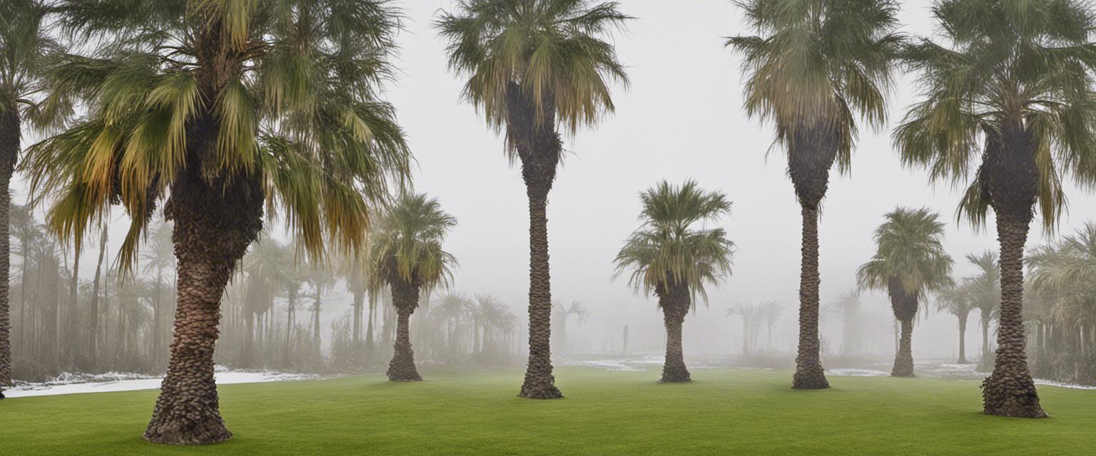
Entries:
<svg viewBox="0 0 1096 456">
<path fill-rule="evenodd" d="M 460 101 L 463 81 L 446 68 L 445 43 L 432 28 L 449 0 L 407 0 L 407 30 L 399 36 L 403 73 L 389 86 L 418 160 L 419 191 L 437 197 L 459 219 L 446 248 L 460 260 L 456 289 L 493 293 L 524 316 L 528 285 L 528 217 L 518 169 L 503 155 L 502 139 L 475 109 Z M 772 130 L 746 118 L 742 105 L 739 58 L 721 37 L 753 34 L 738 7 L 726 0 L 624 0 L 620 9 L 637 17 L 614 38 L 628 67 L 631 86 L 618 87 L 615 115 L 595 130 L 566 140 L 569 151 L 549 197 L 552 295 L 586 304 L 592 318 L 583 338 L 594 348 L 619 344 L 620 328 L 631 325 L 633 341 L 643 334 L 661 340 L 661 316 L 654 300 L 636 296 L 624 280 L 610 281 L 612 260 L 623 239 L 637 227 L 637 195 L 660 179 L 697 179 L 734 201 L 733 217 L 722 222 L 738 244 L 734 273 L 711 290 L 686 319 L 686 350 L 738 350 L 738 319 L 723 317 L 732 302 L 780 301 L 783 329 L 795 330 L 798 307 L 800 217 L 786 161 L 766 160 Z M 905 1 L 903 31 L 933 31 L 928 1 Z M 915 98 L 911 78 L 898 86 L 891 124 Z M 946 246 L 957 258 L 957 276 L 972 272 L 962 257 L 996 248 L 992 224 L 975 232 L 954 220 L 959 190 L 933 187 L 926 174 L 902 167 L 889 129 L 864 131 L 850 176 L 831 179 L 820 225 L 822 301 L 854 287 L 856 268 L 874 252 L 871 234 L 897 204 L 927 206 L 949 221 Z M 1069 189 L 1070 210 L 1062 232 L 1093 219 L 1094 199 Z M 19 201 L 16 199 L 16 201 Z M 20 201 L 21 202 L 21 201 Z M 116 227 L 115 239 L 123 229 Z M 1043 242 L 1032 227 L 1029 246 Z M 113 243 L 112 243 L 113 244 Z M 91 270 L 92 268 L 82 268 Z M 341 315 L 347 304 L 332 304 L 326 317 Z M 882 295 L 865 296 L 868 312 L 889 314 Z M 936 315 L 914 335 L 921 353 L 950 355 L 955 319 Z M 836 323 L 826 323 L 837 337 Z M 972 326 L 973 318 L 972 318 Z M 572 332 L 569 330 L 569 332 Z M 973 329 L 968 350 L 975 350 Z M 833 344 L 836 346 L 840 339 Z M 790 348 L 789 337 L 784 346 Z M 834 347 L 835 349 L 836 347 Z M 881 347 L 880 351 L 891 350 Z"/>
</svg>

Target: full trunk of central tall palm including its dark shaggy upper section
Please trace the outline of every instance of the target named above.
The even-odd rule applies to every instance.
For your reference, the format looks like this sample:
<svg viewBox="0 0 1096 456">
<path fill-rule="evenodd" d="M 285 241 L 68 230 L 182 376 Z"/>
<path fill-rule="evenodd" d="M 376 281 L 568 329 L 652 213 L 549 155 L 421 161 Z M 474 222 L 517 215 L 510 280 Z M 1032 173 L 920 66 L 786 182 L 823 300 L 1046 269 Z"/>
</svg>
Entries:
<svg viewBox="0 0 1096 456">
<path fill-rule="evenodd" d="M 546 96 L 551 100 L 551 96 Z M 521 397 L 557 399 L 551 365 L 551 273 L 548 261 L 548 192 L 556 180 L 562 149 L 550 120 L 538 122 L 532 98 L 511 83 L 507 90 L 506 135 L 522 161 L 522 178 L 529 199 L 529 360 Z M 545 106 L 555 113 L 555 106 Z M 551 116 L 547 117 L 551 119 Z"/>
</svg>

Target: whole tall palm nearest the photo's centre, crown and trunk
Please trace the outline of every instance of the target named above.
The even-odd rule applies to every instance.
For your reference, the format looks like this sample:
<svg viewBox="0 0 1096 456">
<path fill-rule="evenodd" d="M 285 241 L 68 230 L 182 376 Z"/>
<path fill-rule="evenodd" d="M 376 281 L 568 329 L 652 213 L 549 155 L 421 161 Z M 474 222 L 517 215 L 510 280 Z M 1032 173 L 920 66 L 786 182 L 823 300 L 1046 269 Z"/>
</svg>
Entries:
<svg viewBox="0 0 1096 456">
<path fill-rule="evenodd" d="M 448 39 L 449 68 L 468 77 L 464 96 L 489 125 L 505 128 L 511 163 L 521 161 L 529 200 L 529 360 L 518 394 L 563 397 L 551 366 L 548 191 L 562 159 L 560 126 L 574 135 L 614 109 L 609 82 L 627 85 L 603 36 L 629 20 L 616 2 L 459 0 L 435 26 Z"/>
</svg>

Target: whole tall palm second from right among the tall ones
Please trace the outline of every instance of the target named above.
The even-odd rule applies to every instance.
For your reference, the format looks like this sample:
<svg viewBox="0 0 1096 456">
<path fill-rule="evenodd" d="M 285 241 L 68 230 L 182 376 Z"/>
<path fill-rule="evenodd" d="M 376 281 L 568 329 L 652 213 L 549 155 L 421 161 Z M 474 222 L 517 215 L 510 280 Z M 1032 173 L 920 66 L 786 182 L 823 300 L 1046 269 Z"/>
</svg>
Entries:
<svg viewBox="0 0 1096 456">
<path fill-rule="evenodd" d="M 899 7 L 892 0 L 740 4 L 757 33 L 766 35 L 727 40 L 744 55 L 745 108 L 774 124 L 803 219 L 799 352 L 791 387 L 829 388 L 819 340 L 819 210 L 834 162 L 843 173 L 852 163 L 855 114 L 872 127 L 886 125 L 886 92 L 902 43 L 894 33 Z"/>
</svg>

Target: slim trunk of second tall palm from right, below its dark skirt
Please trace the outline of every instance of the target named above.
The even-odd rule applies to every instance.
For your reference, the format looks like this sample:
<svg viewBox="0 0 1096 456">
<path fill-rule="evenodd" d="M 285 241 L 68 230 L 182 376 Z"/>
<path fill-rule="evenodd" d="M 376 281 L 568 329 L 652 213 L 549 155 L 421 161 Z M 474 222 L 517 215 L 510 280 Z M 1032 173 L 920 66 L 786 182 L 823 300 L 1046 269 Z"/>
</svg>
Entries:
<svg viewBox="0 0 1096 456">
<path fill-rule="evenodd" d="M 802 265 L 799 276 L 799 352 L 791 387 L 796 389 L 829 388 L 822 369 L 819 341 L 819 213 L 802 204 Z"/>
</svg>

